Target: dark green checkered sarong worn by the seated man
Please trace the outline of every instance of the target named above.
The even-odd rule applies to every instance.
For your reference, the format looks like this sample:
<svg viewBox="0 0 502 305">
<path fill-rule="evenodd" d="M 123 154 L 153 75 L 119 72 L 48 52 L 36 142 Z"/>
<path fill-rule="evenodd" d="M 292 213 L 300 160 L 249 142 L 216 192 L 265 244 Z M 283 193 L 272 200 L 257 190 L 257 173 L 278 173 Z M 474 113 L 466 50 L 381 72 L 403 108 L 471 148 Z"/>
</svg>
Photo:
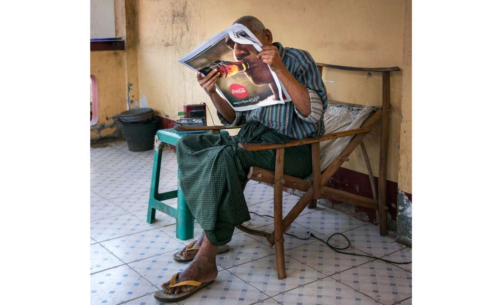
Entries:
<svg viewBox="0 0 502 305">
<path fill-rule="evenodd" d="M 235 136 L 188 134 L 178 141 L 180 188 L 211 244 L 228 243 L 234 226 L 250 220 L 243 195 L 249 168 L 275 169 L 275 149 L 247 151 L 237 144 L 289 140 L 258 122 L 249 122 Z M 288 147 L 284 155 L 286 175 L 305 178 L 311 174 L 310 145 Z"/>
</svg>

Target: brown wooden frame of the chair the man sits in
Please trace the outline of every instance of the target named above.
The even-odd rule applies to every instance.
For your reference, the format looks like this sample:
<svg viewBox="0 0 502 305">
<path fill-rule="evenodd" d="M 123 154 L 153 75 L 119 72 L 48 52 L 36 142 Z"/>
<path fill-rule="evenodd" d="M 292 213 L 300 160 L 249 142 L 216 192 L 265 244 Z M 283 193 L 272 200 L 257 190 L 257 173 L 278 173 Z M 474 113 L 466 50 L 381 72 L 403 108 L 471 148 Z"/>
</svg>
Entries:
<svg viewBox="0 0 502 305">
<path fill-rule="evenodd" d="M 284 229 L 288 228 L 293 221 L 300 215 L 305 207 L 315 207 L 317 199 L 329 198 L 338 201 L 352 203 L 356 206 L 372 208 L 376 210 L 380 221 L 380 234 L 387 235 L 387 207 L 386 207 L 386 182 L 387 182 L 387 149 L 389 142 L 389 112 L 390 112 L 390 77 L 392 71 L 401 70 L 399 67 L 389 68 L 356 68 L 317 63 L 322 75 L 322 69 L 332 68 L 348 71 L 380 72 L 382 77 L 382 106 L 378 107 L 366 120 L 360 128 L 345 130 L 341 132 L 327 133 L 322 136 L 292 140 L 285 143 L 241 143 L 239 147 L 247 150 L 276 149 L 275 172 L 252 167 L 247 176 L 248 179 L 265 182 L 274 185 L 274 232 L 267 233 L 259 230 L 249 229 L 242 225 L 236 227 L 246 233 L 266 237 L 270 246 L 276 247 L 276 262 L 278 278 L 286 278 L 286 267 L 284 262 Z M 379 165 L 379 188 L 376 193 L 375 181 L 369 164 L 366 149 L 362 142 L 368 132 L 376 131 L 378 123 L 380 129 L 380 165 Z M 240 128 L 233 126 L 230 128 Z M 204 127 L 185 127 L 180 126 L 177 130 L 212 130 L 218 134 L 221 129 L 229 129 L 224 126 L 204 126 Z M 335 139 L 344 136 L 351 136 L 352 139 L 343 148 L 336 159 L 321 173 L 319 143 L 321 141 Z M 312 182 L 288 176 L 284 174 L 284 148 L 311 144 L 312 145 Z M 366 167 L 369 173 L 369 180 L 373 192 L 373 198 L 362 197 L 348 192 L 326 187 L 325 184 L 335 174 L 335 172 L 348 161 L 352 151 L 360 145 Z M 293 209 L 283 219 L 282 215 L 282 191 L 283 187 L 304 191 L 305 194 L 296 203 Z"/>
</svg>

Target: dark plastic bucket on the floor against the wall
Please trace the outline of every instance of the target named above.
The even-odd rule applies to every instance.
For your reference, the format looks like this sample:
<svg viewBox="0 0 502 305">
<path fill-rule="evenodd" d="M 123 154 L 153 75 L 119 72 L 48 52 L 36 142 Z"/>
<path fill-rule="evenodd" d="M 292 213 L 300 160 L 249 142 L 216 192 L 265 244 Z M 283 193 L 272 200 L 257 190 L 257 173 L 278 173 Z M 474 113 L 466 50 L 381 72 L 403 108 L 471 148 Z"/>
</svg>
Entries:
<svg viewBox="0 0 502 305">
<path fill-rule="evenodd" d="M 131 151 L 153 149 L 157 131 L 157 119 L 152 108 L 144 107 L 124 111 L 119 115 L 120 123 Z"/>
</svg>

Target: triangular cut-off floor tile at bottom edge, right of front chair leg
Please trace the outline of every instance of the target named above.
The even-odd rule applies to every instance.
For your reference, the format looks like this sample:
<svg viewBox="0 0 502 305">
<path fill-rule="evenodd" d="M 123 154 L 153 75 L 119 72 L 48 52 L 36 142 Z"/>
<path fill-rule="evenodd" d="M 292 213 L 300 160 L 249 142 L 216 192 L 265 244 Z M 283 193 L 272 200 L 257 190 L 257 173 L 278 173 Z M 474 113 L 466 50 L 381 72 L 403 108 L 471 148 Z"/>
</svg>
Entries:
<svg viewBox="0 0 502 305">
<path fill-rule="evenodd" d="M 279 302 L 289 304 L 343 304 L 343 305 L 376 305 L 379 302 L 370 297 L 335 281 L 323 278 L 313 283 L 274 296 Z"/>
</svg>

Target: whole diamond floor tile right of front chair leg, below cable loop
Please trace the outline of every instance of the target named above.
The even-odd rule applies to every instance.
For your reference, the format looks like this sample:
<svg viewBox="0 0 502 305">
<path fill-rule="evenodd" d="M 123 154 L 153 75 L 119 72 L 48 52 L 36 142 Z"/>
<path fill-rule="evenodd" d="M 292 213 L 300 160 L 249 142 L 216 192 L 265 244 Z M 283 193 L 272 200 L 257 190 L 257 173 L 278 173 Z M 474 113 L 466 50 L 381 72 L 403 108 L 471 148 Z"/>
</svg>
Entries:
<svg viewBox="0 0 502 305">
<path fill-rule="evenodd" d="M 336 247 L 340 247 L 340 245 L 336 245 Z M 340 251 L 355 254 L 366 254 L 352 247 Z M 320 241 L 288 250 L 286 251 L 286 255 L 296 258 L 297 260 L 318 271 L 321 271 L 326 275 L 332 275 L 336 272 L 349 269 L 371 260 L 367 257 L 335 252 Z"/>
</svg>

